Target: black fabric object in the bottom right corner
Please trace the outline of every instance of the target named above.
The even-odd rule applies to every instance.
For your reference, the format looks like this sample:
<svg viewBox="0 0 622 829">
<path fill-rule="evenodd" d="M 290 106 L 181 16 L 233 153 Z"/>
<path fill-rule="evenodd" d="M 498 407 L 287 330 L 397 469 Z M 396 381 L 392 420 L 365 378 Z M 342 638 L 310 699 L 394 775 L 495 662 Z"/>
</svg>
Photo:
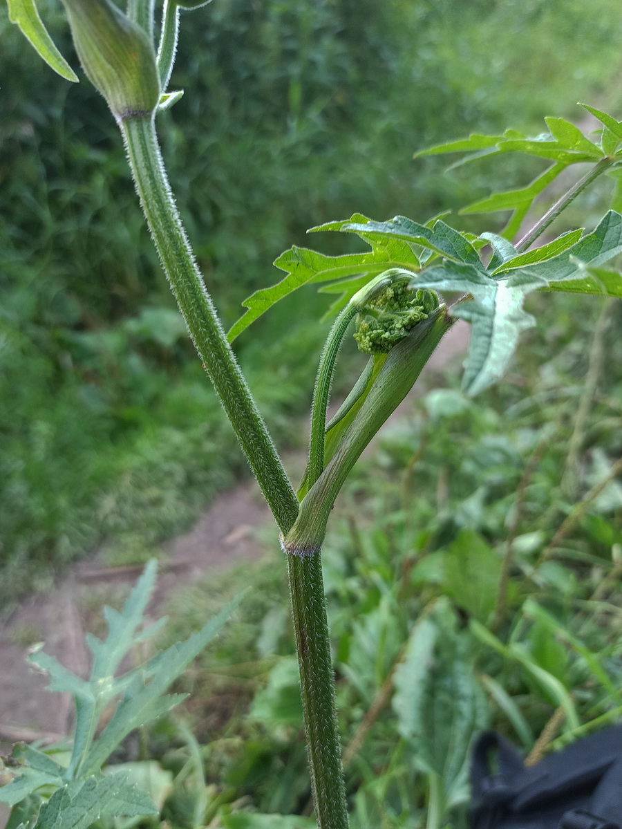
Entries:
<svg viewBox="0 0 622 829">
<path fill-rule="evenodd" d="M 470 829 L 622 829 L 622 725 L 528 768 L 513 744 L 485 731 L 473 748 L 471 797 Z"/>
</svg>

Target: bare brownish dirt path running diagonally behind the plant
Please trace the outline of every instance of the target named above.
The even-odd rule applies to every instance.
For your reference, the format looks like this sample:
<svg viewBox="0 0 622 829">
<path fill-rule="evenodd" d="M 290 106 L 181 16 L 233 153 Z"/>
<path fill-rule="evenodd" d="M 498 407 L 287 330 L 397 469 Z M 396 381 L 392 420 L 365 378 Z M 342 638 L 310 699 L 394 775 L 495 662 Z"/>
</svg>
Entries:
<svg viewBox="0 0 622 829">
<path fill-rule="evenodd" d="M 425 390 L 430 376 L 455 366 L 467 342 L 468 327 L 460 322 L 428 362 L 417 391 Z M 398 419 L 407 405 L 404 401 L 391 419 Z M 301 465 L 301 458 L 289 460 L 288 466 Z M 190 532 L 162 545 L 163 563 L 154 604 L 161 605 L 173 591 L 208 570 L 258 558 L 261 547 L 257 531 L 271 521 L 254 482 L 243 482 L 224 492 Z M 51 592 L 31 596 L 12 614 L 0 631 L 0 750 L 19 739 L 51 741 L 70 733 L 71 700 L 68 695 L 46 691 L 46 677 L 25 662 L 27 647 L 45 641 L 46 652 L 71 671 L 86 674 L 89 659 L 84 631 L 99 623 L 101 606 L 126 594 L 128 584 L 141 571 L 142 565 L 109 569 L 95 555 L 59 579 Z"/>
</svg>

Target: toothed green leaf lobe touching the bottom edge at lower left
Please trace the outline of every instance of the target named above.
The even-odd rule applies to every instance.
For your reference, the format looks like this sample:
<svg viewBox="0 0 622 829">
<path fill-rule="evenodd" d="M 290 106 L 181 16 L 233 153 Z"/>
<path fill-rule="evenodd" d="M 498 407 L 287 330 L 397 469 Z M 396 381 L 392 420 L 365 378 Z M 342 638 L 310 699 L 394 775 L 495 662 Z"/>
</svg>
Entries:
<svg viewBox="0 0 622 829">
<path fill-rule="evenodd" d="M 34 829 L 88 829 L 103 818 L 153 814 L 151 797 L 129 785 L 125 774 L 89 777 L 58 789 L 41 806 Z"/>
</svg>

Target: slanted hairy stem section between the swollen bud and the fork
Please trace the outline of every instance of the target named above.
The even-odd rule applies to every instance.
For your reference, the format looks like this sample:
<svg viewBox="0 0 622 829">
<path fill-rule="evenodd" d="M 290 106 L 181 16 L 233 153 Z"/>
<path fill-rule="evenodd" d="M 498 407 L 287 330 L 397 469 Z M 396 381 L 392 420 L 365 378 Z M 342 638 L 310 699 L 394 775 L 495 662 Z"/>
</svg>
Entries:
<svg viewBox="0 0 622 829">
<path fill-rule="evenodd" d="M 153 118 L 126 118 L 119 126 L 142 209 L 190 337 L 268 506 L 287 531 L 297 516 L 297 497 L 205 289 L 171 195 Z"/>
</svg>

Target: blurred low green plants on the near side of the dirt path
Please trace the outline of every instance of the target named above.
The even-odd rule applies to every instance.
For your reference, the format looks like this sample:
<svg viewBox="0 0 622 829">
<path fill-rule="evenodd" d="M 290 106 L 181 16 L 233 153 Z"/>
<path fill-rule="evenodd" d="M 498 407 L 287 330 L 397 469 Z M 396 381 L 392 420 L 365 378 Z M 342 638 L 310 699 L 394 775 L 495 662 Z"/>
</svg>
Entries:
<svg viewBox="0 0 622 829">
<path fill-rule="evenodd" d="M 470 400 L 446 377 L 388 426 L 335 507 L 323 559 L 354 829 L 464 829 L 468 749 L 482 728 L 528 753 L 553 716 L 538 750 L 620 721 L 620 485 L 611 481 L 554 540 L 622 454 L 622 309 L 588 300 L 577 317 L 575 298 L 530 303 L 557 322 L 528 333 L 509 382 Z M 603 313 L 606 364 L 591 346 Z M 581 425 L 586 381 L 595 394 Z M 568 492 L 576 428 L 581 452 Z M 191 692 L 186 711 L 214 827 L 279 826 L 268 817 L 277 813 L 297 827 L 310 794 L 275 555 L 271 540 L 252 570 L 210 574 L 170 604 L 177 638 L 253 585 L 180 686 Z M 189 756 L 175 728 L 162 721 L 150 738 L 152 756 L 174 773 Z M 196 802 L 202 791 L 186 797 Z M 163 817 L 190 829 L 177 797 L 174 787 Z"/>
</svg>

